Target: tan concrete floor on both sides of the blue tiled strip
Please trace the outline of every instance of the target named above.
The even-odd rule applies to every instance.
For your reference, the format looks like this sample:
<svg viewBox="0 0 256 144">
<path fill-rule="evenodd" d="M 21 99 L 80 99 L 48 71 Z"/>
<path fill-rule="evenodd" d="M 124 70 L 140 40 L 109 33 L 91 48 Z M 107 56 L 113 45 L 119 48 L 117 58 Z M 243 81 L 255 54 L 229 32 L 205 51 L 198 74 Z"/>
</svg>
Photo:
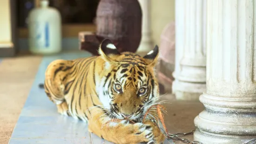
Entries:
<svg viewBox="0 0 256 144">
<path fill-rule="evenodd" d="M 42 56 L 26 55 L 0 62 L 0 144 L 7 144 L 12 135 L 41 61 Z M 193 120 L 203 111 L 200 102 L 177 101 L 171 94 L 165 94 L 161 100 L 171 103 L 165 105 L 168 111 L 165 124 L 171 133 L 195 129 Z M 183 138 L 192 140 L 193 136 Z M 176 141 L 175 144 L 183 143 Z"/>
</svg>

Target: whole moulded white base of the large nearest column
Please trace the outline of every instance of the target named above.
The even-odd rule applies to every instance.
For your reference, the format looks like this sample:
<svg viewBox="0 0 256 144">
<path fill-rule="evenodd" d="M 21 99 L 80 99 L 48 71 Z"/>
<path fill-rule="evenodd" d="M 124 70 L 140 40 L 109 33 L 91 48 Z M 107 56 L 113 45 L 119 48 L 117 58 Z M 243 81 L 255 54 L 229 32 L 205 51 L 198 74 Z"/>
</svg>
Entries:
<svg viewBox="0 0 256 144">
<path fill-rule="evenodd" d="M 194 119 L 198 129 L 195 140 L 203 144 L 245 144 L 256 138 L 255 97 L 203 93 L 199 100 L 205 109 Z"/>
</svg>

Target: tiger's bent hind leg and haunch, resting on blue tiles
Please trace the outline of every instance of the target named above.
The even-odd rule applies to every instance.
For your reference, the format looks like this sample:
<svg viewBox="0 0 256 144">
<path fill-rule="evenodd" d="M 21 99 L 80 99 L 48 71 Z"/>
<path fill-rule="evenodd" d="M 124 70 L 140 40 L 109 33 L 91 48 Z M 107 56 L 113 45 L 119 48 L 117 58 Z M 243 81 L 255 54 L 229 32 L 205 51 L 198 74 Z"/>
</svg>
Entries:
<svg viewBox="0 0 256 144">
<path fill-rule="evenodd" d="M 56 104 L 58 112 L 70 116 L 65 99 L 65 84 L 68 80 L 72 62 L 69 60 L 55 60 L 46 69 L 45 92 L 49 99 Z"/>
</svg>

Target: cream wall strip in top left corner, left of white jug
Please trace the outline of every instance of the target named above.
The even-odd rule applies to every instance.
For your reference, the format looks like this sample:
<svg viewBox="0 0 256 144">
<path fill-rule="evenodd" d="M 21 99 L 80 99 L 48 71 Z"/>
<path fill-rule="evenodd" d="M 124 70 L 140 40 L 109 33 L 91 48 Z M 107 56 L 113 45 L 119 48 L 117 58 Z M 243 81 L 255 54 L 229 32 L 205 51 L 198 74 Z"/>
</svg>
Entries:
<svg viewBox="0 0 256 144">
<path fill-rule="evenodd" d="M 11 43 L 11 13 L 9 0 L 0 0 L 0 44 Z"/>
</svg>

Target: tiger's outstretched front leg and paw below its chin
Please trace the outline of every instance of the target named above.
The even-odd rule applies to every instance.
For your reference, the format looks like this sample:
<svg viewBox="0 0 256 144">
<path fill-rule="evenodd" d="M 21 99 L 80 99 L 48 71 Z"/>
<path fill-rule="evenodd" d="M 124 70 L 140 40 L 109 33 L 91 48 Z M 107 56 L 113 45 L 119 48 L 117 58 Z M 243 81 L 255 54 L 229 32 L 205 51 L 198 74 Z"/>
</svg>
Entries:
<svg viewBox="0 0 256 144">
<path fill-rule="evenodd" d="M 116 144 L 161 144 L 164 135 L 154 123 L 130 124 L 128 120 L 104 124 L 99 131 L 89 124 L 89 130 L 99 137 Z"/>
</svg>

